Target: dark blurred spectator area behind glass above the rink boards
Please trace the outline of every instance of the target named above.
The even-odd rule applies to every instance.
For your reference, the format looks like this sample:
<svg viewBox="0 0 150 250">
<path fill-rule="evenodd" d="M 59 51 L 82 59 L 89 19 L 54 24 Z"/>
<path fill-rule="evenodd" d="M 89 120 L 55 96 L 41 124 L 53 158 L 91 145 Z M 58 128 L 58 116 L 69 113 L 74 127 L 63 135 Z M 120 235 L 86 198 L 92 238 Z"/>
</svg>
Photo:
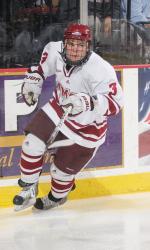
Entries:
<svg viewBox="0 0 150 250">
<path fill-rule="evenodd" d="M 62 40 L 70 22 L 88 24 L 93 50 L 113 65 L 148 64 L 148 5 L 136 19 L 131 0 L 1 0 L 0 68 L 36 65 L 44 46 Z"/>
</svg>

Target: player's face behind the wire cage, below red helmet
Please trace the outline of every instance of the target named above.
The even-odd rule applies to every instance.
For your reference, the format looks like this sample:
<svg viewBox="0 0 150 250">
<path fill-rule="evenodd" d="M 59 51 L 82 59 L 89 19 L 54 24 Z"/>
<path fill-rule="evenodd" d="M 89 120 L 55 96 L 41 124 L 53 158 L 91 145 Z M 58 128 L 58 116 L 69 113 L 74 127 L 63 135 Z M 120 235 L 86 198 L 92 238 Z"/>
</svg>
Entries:
<svg viewBox="0 0 150 250">
<path fill-rule="evenodd" d="M 67 58 L 72 61 L 82 60 L 88 51 L 88 43 L 83 40 L 67 39 L 65 41 L 65 49 Z"/>
</svg>

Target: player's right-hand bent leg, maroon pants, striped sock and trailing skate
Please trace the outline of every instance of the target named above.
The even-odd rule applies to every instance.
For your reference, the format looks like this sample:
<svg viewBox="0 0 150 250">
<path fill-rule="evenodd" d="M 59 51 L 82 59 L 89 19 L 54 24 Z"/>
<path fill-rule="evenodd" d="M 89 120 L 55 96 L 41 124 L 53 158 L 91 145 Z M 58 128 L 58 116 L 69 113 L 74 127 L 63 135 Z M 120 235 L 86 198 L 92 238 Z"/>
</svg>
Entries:
<svg viewBox="0 0 150 250">
<path fill-rule="evenodd" d="M 62 205 L 74 188 L 76 174 L 93 158 L 95 149 L 80 145 L 58 149 L 51 166 L 51 190 L 48 195 L 36 199 L 34 207 L 46 210 Z"/>
</svg>

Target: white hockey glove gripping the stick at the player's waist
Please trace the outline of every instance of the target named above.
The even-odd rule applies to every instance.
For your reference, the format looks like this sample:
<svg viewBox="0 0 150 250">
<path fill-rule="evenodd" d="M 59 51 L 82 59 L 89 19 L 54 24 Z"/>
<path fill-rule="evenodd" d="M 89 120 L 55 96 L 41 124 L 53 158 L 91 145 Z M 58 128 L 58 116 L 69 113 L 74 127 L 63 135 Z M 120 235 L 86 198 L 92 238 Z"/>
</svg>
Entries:
<svg viewBox="0 0 150 250">
<path fill-rule="evenodd" d="M 93 110 L 92 98 L 85 93 L 77 93 L 70 95 L 67 99 L 64 99 L 61 106 L 66 110 L 69 106 L 72 106 L 70 115 L 79 115 L 84 111 Z"/>
</svg>

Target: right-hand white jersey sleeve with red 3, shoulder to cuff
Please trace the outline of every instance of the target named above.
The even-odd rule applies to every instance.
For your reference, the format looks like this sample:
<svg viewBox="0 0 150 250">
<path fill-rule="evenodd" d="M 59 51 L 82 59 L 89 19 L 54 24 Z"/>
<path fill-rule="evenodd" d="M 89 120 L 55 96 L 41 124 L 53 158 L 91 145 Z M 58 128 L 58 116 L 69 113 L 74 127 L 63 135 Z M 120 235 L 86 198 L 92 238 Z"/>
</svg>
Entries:
<svg viewBox="0 0 150 250">
<path fill-rule="evenodd" d="M 102 116 L 115 115 L 123 106 L 123 91 L 114 68 L 108 63 L 98 63 L 99 67 L 93 68 L 88 75 L 88 88 L 94 111 Z"/>
</svg>

